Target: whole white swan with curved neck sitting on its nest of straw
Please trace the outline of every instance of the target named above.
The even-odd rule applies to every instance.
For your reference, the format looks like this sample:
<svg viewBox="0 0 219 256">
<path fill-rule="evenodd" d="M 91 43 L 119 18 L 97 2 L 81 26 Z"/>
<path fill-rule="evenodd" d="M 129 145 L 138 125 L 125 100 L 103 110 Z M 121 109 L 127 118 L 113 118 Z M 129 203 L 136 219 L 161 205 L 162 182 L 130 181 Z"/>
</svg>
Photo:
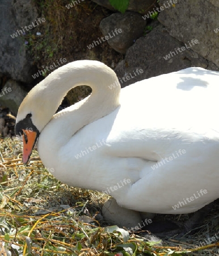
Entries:
<svg viewBox="0 0 219 256">
<path fill-rule="evenodd" d="M 120 92 L 106 65 L 66 64 L 20 105 L 23 162 L 39 136 L 40 158 L 63 183 L 106 191 L 137 211 L 194 212 L 219 196 L 218 81 L 219 72 L 187 68 Z M 79 85 L 91 95 L 54 114 Z"/>
</svg>

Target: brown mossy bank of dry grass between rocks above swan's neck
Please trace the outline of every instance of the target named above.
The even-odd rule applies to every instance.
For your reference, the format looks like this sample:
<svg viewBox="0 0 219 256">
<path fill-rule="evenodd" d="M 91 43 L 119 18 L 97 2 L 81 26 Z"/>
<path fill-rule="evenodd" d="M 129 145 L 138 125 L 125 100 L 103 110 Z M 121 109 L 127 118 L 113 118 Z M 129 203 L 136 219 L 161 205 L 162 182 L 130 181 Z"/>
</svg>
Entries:
<svg viewBox="0 0 219 256">
<path fill-rule="evenodd" d="M 46 22 L 26 35 L 27 46 L 39 69 L 56 63 L 60 57 L 67 63 L 73 60 L 99 60 L 111 67 L 119 63 L 123 55 L 113 50 L 107 42 L 89 49 L 102 35 L 99 23 L 112 11 L 90 0 L 78 1 L 78 5 L 66 8 L 71 0 L 35 0 L 38 13 Z M 41 35 L 36 36 L 36 31 Z M 48 71 L 44 75 L 47 76 Z"/>
</svg>

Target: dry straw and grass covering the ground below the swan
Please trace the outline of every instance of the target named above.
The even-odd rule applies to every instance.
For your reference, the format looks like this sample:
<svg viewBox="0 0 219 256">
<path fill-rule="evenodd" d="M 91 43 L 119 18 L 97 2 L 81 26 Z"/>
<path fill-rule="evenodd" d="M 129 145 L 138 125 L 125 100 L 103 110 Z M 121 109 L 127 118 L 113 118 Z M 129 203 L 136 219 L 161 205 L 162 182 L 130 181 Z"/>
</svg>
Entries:
<svg viewBox="0 0 219 256">
<path fill-rule="evenodd" d="M 108 197 L 60 183 L 37 151 L 23 166 L 17 138 L 0 139 L 0 145 L 0 255 L 219 255 L 216 241 L 195 249 L 207 234 L 214 236 L 211 223 L 217 216 L 195 237 L 172 238 L 161 246 L 148 241 L 148 232 L 128 235 L 116 226 L 106 228 L 100 213 Z"/>
</svg>

